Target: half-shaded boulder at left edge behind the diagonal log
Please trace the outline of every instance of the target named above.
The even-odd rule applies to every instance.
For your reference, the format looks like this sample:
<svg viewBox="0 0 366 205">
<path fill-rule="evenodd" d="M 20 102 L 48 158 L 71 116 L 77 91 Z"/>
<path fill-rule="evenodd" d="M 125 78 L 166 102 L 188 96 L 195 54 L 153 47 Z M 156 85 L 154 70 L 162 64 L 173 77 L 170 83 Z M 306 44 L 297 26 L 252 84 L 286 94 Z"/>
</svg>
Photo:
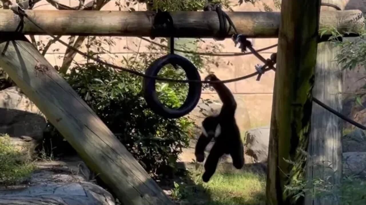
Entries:
<svg viewBox="0 0 366 205">
<path fill-rule="evenodd" d="M 46 119 L 16 86 L 0 90 L 0 134 L 8 134 L 19 150 L 32 158 L 43 139 Z"/>
</svg>

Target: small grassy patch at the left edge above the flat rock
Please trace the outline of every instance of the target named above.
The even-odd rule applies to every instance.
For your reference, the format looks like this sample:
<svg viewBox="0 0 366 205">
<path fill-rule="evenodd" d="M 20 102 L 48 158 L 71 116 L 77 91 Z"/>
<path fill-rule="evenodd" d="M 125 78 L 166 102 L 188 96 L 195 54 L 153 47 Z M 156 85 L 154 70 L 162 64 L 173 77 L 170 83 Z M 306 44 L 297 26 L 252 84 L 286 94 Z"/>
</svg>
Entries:
<svg viewBox="0 0 366 205">
<path fill-rule="evenodd" d="M 15 185 L 28 178 L 34 170 L 33 163 L 11 144 L 9 135 L 0 134 L 0 186 Z"/>
</svg>

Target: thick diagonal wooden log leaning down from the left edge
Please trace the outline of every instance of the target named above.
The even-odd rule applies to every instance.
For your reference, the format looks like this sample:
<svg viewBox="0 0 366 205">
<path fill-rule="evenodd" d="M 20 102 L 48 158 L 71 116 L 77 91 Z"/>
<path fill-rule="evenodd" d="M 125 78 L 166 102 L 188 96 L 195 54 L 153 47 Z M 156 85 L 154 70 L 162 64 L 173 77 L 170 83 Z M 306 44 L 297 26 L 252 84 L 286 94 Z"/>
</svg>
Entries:
<svg viewBox="0 0 366 205">
<path fill-rule="evenodd" d="M 108 127 L 22 34 L 0 34 L 0 67 L 123 204 L 173 205 Z M 14 199 L 16 200 L 16 199 Z"/>
</svg>

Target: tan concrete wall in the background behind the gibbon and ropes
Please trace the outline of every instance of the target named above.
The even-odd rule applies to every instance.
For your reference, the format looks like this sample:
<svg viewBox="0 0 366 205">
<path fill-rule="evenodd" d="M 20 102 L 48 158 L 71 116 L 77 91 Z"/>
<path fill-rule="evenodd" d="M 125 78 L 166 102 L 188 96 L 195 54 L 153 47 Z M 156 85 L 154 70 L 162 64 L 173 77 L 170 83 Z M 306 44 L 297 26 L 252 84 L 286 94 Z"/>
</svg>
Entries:
<svg viewBox="0 0 366 205">
<path fill-rule="evenodd" d="M 350 1 L 350 5 L 347 9 L 358 8 L 358 6 L 363 6 L 365 8 L 365 1 L 362 0 L 347 0 Z M 78 5 L 78 1 L 76 0 L 60 0 L 62 4 L 76 6 Z M 121 0 L 123 4 L 124 0 Z M 233 0 L 233 3 L 237 3 L 237 0 Z M 262 0 L 252 5 L 251 3 L 244 3 L 242 5 L 238 5 L 233 7 L 234 11 L 264 11 L 264 4 L 269 5 L 273 11 L 279 11 L 274 7 L 273 0 Z M 41 1 L 38 3 L 35 9 L 55 9 L 51 5 L 48 5 L 45 1 Z M 134 9 L 137 11 L 145 11 L 146 6 L 144 4 L 137 4 L 134 6 Z M 115 6 L 115 1 L 109 2 L 104 6 L 102 10 L 118 10 Z M 127 9 L 122 9 L 127 10 Z M 67 41 L 69 36 L 63 36 L 61 39 Z M 112 54 L 117 55 L 118 58 L 114 63 L 119 64 L 118 61 L 121 61 L 123 56 L 130 57 L 135 52 L 149 52 L 145 46 L 147 42 L 141 41 L 139 38 L 135 37 L 110 37 L 114 38 L 117 43 L 116 46 L 107 47 Z M 43 42 L 48 42 L 51 39 L 49 36 L 36 36 L 36 40 L 42 40 Z M 277 39 L 251 39 L 253 42 L 253 47 L 255 49 L 260 49 L 263 47 L 267 47 L 277 43 Z M 155 40 L 159 42 L 157 38 Z M 226 39 L 224 41 L 215 42 L 213 39 L 205 39 L 206 43 L 198 46 L 205 46 L 209 43 L 221 43 L 224 45 L 223 53 L 231 53 L 231 52 L 239 52 L 237 47 L 234 47 L 234 43 L 231 39 Z M 140 45 L 140 49 L 138 49 L 138 45 Z M 125 49 L 124 47 L 129 47 L 130 50 Z M 60 45 L 60 43 L 55 43 L 51 46 L 46 54 L 46 59 L 52 65 L 61 66 L 62 58 L 64 55 L 64 51 L 66 47 Z M 82 51 L 86 51 L 85 46 L 82 47 Z M 265 58 L 269 58 L 270 54 L 276 52 L 277 48 L 273 48 L 267 51 L 261 52 L 261 54 Z M 103 55 L 105 60 L 110 60 L 108 55 Z M 255 71 L 254 65 L 257 63 L 262 64 L 256 57 L 253 55 L 245 55 L 240 57 L 217 57 L 216 60 L 220 62 L 219 66 L 216 67 L 214 65 L 206 65 L 206 69 L 214 71 L 214 73 L 221 79 L 235 78 L 244 76 L 246 74 L 253 73 Z M 75 61 L 83 62 L 84 59 L 77 54 L 75 57 Z M 227 65 L 228 62 L 232 64 Z M 207 73 L 203 73 L 202 77 L 205 77 Z M 272 108 L 272 92 L 273 92 L 273 83 L 274 83 L 275 73 L 273 71 L 269 71 L 268 73 L 262 76 L 261 81 L 256 81 L 255 77 L 250 78 L 248 80 L 238 81 L 234 83 L 229 83 L 227 86 L 234 93 L 235 98 L 238 102 L 238 110 L 236 112 L 236 119 L 238 120 L 238 124 L 240 130 L 244 132 L 246 129 L 258 127 L 262 125 L 269 125 L 270 123 L 270 113 Z M 353 75 L 354 76 L 354 75 Z M 202 98 L 211 98 L 217 99 L 217 94 L 203 91 Z M 202 103 L 200 103 L 202 105 Z M 214 105 L 216 109 L 220 109 L 220 105 Z M 203 116 L 199 115 L 198 108 L 191 113 L 195 119 L 197 119 L 197 123 L 200 123 Z"/>
</svg>

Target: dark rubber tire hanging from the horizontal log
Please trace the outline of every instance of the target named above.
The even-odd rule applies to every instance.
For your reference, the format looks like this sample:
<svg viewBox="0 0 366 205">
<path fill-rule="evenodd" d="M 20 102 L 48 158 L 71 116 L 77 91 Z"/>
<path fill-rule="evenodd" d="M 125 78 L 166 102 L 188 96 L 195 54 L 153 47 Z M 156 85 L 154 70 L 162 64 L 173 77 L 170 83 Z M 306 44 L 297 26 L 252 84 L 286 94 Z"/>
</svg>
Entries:
<svg viewBox="0 0 366 205">
<path fill-rule="evenodd" d="M 145 74 L 157 76 L 159 71 L 169 63 L 174 63 L 182 67 L 188 80 L 201 80 L 197 68 L 188 59 L 176 55 L 168 54 L 156 59 L 147 69 Z M 198 104 L 201 98 L 202 84 L 189 82 L 188 95 L 183 105 L 178 109 L 167 108 L 162 104 L 156 94 L 156 80 L 153 78 L 143 78 L 142 89 L 147 105 L 156 114 L 167 118 L 179 118 L 190 113 Z"/>
</svg>

